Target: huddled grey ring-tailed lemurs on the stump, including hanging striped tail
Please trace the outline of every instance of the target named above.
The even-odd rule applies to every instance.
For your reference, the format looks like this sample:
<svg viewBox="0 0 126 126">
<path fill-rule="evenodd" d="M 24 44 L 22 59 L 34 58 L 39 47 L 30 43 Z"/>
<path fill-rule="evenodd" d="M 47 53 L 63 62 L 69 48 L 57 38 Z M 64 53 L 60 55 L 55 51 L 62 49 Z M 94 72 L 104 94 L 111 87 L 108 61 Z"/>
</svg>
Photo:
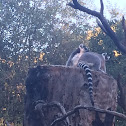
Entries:
<svg viewBox="0 0 126 126">
<path fill-rule="evenodd" d="M 90 69 L 106 73 L 105 61 L 110 57 L 107 56 L 107 53 L 98 54 L 89 52 L 89 50 L 87 50 L 87 48 L 83 44 L 79 45 L 78 49 L 80 51 L 78 51 L 78 53 L 75 53 L 75 55 L 71 54 L 72 57 L 69 57 L 67 61 L 67 63 L 71 62 L 71 65 L 66 64 L 66 66 L 77 66 L 85 70 L 88 78 L 90 100 L 92 105 L 94 105 L 93 83 Z"/>
</svg>

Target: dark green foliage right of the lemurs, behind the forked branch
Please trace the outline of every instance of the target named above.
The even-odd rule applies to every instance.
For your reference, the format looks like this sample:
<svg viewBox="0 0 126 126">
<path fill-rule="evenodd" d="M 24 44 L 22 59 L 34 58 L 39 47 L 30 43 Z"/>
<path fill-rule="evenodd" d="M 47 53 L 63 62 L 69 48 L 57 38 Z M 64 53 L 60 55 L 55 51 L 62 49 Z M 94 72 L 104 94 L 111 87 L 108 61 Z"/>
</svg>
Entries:
<svg viewBox="0 0 126 126">
<path fill-rule="evenodd" d="M 111 27 L 114 28 L 116 34 L 121 42 L 124 40 L 124 34 L 122 31 L 122 24 L 119 21 L 110 22 Z M 96 30 L 93 31 L 96 33 Z M 107 65 L 107 73 L 112 75 L 116 80 L 119 75 L 121 75 L 122 84 L 126 84 L 126 55 L 122 55 L 118 48 L 114 45 L 113 41 L 105 35 L 102 31 L 100 31 L 96 36 L 90 38 L 89 46 L 92 51 L 103 53 L 107 52 L 110 55 L 110 60 L 106 63 Z M 114 54 L 117 53 L 118 55 Z M 120 106 L 118 106 L 118 112 L 123 113 L 123 110 Z M 126 122 L 116 118 L 116 126 L 125 126 Z"/>
</svg>

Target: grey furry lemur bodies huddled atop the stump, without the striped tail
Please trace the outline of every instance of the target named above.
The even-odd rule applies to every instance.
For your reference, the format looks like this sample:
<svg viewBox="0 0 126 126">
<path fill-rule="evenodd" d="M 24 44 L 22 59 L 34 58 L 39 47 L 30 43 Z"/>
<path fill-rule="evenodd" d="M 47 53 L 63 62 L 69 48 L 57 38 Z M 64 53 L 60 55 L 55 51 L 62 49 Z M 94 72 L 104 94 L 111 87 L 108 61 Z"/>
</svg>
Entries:
<svg viewBox="0 0 126 126">
<path fill-rule="evenodd" d="M 109 58 L 110 56 L 108 56 L 107 53 L 98 54 L 89 52 L 86 46 L 80 44 L 79 48 L 71 53 L 66 66 L 77 66 L 78 62 L 82 60 L 89 65 L 90 69 L 106 73 L 105 63 Z"/>
</svg>

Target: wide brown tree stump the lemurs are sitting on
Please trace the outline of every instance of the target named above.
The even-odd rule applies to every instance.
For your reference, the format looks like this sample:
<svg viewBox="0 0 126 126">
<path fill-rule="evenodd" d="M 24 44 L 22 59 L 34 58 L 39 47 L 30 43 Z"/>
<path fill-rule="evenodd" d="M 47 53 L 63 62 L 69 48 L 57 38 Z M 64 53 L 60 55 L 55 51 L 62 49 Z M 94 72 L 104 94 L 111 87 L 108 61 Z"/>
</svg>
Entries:
<svg viewBox="0 0 126 126">
<path fill-rule="evenodd" d="M 117 82 L 92 71 L 94 107 L 116 110 Z M 50 126 L 75 106 L 91 107 L 84 70 L 65 66 L 38 66 L 26 79 L 24 126 Z M 113 116 L 78 110 L 55 126 L 112 126 Z"/>
</svg>

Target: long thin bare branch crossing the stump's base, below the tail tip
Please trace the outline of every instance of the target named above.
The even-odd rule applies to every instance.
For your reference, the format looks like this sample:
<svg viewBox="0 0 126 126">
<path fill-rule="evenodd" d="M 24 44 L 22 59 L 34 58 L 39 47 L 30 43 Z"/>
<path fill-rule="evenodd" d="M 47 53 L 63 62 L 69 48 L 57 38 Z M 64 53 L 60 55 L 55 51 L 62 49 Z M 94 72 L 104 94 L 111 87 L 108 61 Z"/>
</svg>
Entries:
<svg viewBox="0 0 126 126">
<path fill-rule="evenodd" d="M 54 126 L 56 123 L 60 122 L 60 121 L 63 121 L 64 119 L 66 119 L 68 116 L 76 113 L 77 111 L 79 111 L 80 109 L 86 109 L 86 110 L 89 110 L 89 111 L 96 111 L 96 112 L 99 112 L 99 113 L 106 113 L 106 114 L 110 114 L 110 115 L 113 115 L 113 116 L 117 116 L 119 118 L 122 118 L 124 120 L 126 120 L 126 116 L 122 113 L 118 113 L 118 112 L 115 112 L 115 111 L 110 111 L 110 110 L 105 110 L 105 109 L 98 109 L 98 108 L 94 108 L 94 107 L 84 107 L 84 106 L 81 106 L 81 105 L 78 105 L 76 106 L 73 110 L 67 112 L 64 116 L 62 116 L 61 118 L 58 118 L 56 120 L 54 120 L 51 124 L 51 126 Z"/>
</svg>

